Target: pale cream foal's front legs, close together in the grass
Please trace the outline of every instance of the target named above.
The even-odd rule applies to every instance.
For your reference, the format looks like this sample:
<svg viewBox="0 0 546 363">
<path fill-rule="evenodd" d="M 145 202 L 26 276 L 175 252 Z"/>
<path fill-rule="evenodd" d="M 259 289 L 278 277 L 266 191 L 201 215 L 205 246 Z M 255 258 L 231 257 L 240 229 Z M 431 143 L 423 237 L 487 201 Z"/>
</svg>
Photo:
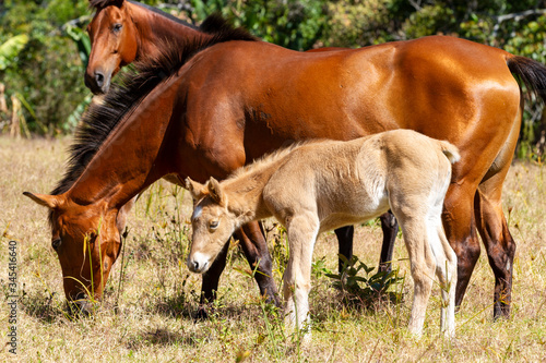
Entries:
<svg viewBox="0 0 546 363">
<path fill-rule="evenodd" d="M 312 216 L 295 216 L 286 226 L 290 247 L 283 285 L 287 328 L 301 329 L 309 322 L 312 251 L 319 226 Z"/>
</svg>

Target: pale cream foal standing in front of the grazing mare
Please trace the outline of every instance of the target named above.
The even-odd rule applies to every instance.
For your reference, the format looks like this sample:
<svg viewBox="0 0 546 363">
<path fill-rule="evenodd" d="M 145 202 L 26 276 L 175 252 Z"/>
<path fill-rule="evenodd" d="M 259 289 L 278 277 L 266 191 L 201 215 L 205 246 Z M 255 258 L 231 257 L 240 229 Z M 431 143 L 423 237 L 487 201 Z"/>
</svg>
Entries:
<svg viewBox="0 0 546 363">
<path fill-rule="evenodd" d="M 202 274 L 242 225 L 275 217 L 286 227 L 286 325 L 309 322 L 312 251 L 317 237 L 391 209 L 402 227 L 414 279 L 410 331 L 420 336 L 435 274 L 442 287 L 440 329 L 455 334 L 456 255 L 442 227 L 443 198 L 455 146 L 413 130 L 348 142 L 290 147 L 206 185 L 187 179 L 195 204 L 188 267 Z"/>
</svg>

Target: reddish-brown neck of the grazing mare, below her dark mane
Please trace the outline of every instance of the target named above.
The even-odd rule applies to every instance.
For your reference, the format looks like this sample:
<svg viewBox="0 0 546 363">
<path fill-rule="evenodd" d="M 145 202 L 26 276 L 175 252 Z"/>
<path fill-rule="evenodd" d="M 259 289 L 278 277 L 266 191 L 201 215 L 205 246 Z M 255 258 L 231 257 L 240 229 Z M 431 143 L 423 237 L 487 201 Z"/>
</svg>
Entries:
<svg viewBox="0 0 546 363">
<path fill-rule="evenodd" d="M 161 84 L 128 111 L 67 192 L 69 199 L 119 209 L 171 172 L 170 158 L 161 152 L 176 97 L 171 89 L 178 86 L 179 81 Z"/>
</svg>

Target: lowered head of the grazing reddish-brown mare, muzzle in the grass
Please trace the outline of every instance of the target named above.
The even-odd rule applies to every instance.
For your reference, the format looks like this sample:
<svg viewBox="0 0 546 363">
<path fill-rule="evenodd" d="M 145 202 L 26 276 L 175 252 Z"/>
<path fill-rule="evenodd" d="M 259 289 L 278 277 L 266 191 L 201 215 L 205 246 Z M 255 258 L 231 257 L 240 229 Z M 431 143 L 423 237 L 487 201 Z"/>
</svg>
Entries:
<svg viewBox="0 0 546 363">
<path fill-rule="evenodd" d="M 25 195 L 51 209 L 51 246 L 61 264 L 64 294 L 90 313 L 90 302 L 102 298 L 121 246 L 117 211 L 81 206 L 63 195 Z"/>
</svg>

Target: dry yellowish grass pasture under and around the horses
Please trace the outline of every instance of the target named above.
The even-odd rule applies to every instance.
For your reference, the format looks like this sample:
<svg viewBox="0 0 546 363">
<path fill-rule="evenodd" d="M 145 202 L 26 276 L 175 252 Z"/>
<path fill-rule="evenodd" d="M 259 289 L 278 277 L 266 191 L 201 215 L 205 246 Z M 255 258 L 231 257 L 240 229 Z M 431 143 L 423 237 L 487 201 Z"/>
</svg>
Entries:
<svg viewBox="0 0 546 363">
<path fill-rule="evenodd" d="M 546 168 L 512 166 L 505 208 L 518 243 L 512 314 L 492 322 L 494 278 L 483 251 L 455 316 L 456 339 L 439 334 L 439 289 L 427 312 L 424 337 L 406 329 L 412 281 L 405 247 L 397 242 L 392 287 L 397 303 L 377 300 L 368 308 L 343 303 L 325 274 L 336 270 L 337 243 L 322 235 L 314 250 L 308 344 L 286 335 L 282 313 L 259 297 L 246 259 L 232 242 L 219 299 L 207 320 L 194 320 L 201 277 L 189 273 L 189 193 L 154 184 L 129 217 L 122 257 L 112 268 L 96 313 L 72 319 L 64 310 L 60 266 L 50 246 L 47 211 L 24 191 L 51 191 L 63 171 L 70 140 L 0 137 L 0 361 L 17 362 L 545 362 L 546 361 Z M 265 222 L 281 285 L 286 261 L 281 228 Z M 357 228 L 355 254 L 377 266 L 381 229 Z M 16 355 L 9 352 L 9 246 L 16 241 L 19 303 Z M 372 273 L 373 274 L 373 273 Z"/>
</svg>

